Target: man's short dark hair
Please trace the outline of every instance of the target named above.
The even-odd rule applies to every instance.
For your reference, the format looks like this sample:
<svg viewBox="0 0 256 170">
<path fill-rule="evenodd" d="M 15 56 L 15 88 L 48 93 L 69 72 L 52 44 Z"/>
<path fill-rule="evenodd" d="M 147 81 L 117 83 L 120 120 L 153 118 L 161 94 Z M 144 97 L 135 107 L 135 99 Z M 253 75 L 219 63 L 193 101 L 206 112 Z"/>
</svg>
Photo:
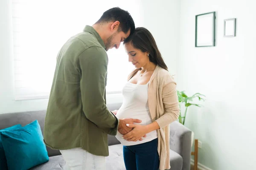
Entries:
<svg viewBox="0 0 256 170">
<path fill-rule="evenodd" d="M 119 21 L 119 30 L 123 31 L 125 34 L 131 29 L 132 34 L 135 29 L 134 20 L 128 11 L 125 11 L 119 7 L 111 8 L 105 11 L 100 19 L 96 22 L 98 23 L 108 23 L 111 21 Z"/>
</svg>

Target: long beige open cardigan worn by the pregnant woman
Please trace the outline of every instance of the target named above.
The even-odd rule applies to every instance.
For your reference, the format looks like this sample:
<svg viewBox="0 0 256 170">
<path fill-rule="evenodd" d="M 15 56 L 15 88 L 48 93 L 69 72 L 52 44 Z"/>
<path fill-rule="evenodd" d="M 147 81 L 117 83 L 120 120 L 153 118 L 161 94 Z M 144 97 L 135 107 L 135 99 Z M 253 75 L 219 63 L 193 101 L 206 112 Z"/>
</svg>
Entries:
<svg viewBox="0 0 256 170">
<path fill-rule="evenodd" d="M 139 71 L 135 69 L 128 80 Z M 160 156 L 160 170 L 169 170 L 170 167 L 170 129 L 169 124 L 178 119 L 180 114 L 176 91 L 176 82 L 168 71 L 159 65 L 154 70 L 148 85 L 148 105 L 152 121 L 160 127 L 157 130 L 158 153 Z"/>
</svg>

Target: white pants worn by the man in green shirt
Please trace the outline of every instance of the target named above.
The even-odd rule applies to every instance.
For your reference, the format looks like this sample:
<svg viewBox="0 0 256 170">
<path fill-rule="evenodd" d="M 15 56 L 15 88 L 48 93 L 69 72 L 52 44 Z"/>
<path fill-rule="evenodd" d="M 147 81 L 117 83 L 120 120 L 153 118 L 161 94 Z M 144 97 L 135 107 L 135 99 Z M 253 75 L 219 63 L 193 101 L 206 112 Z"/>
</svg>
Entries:
<svg viewBox="0 0 256 170">
<path fill-rule="evenodd" d="M 60 150 L 66 161 L 65 170 L 105 170 L 105 156 L 93 155 L 82 148 Z"/>
</svg>

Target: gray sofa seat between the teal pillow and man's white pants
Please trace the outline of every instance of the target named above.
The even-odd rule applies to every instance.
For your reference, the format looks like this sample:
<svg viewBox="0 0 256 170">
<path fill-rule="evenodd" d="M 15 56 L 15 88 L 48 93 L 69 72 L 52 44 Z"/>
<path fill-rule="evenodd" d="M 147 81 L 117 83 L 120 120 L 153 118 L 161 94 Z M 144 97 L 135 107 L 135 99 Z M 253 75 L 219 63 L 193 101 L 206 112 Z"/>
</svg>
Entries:
<svg viewBox="0 0 256 170">
<path fill-rule="evenodd" d="M 48 162 L 32 167 L 30 170 L 64 170 L 65 164 L 62 155 L 50 156 Z"/>
</svg>

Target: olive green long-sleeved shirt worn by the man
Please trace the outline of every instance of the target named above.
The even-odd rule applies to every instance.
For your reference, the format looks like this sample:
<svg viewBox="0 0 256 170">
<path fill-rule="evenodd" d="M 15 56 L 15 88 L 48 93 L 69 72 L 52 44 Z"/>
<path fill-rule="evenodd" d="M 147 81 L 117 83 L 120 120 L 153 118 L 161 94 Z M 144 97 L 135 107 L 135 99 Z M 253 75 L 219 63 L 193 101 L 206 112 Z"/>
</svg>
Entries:
<svg viewBox="0 0 256 170">
<path fill-rule="evenodd" d="M 107 68 L 104 42 L 93 27 L 63 45 L 44 124 L 47 146 L 108 156 L 108 134 L 116 135 L 119 120 L 106 107 Z"/>
</svg>

